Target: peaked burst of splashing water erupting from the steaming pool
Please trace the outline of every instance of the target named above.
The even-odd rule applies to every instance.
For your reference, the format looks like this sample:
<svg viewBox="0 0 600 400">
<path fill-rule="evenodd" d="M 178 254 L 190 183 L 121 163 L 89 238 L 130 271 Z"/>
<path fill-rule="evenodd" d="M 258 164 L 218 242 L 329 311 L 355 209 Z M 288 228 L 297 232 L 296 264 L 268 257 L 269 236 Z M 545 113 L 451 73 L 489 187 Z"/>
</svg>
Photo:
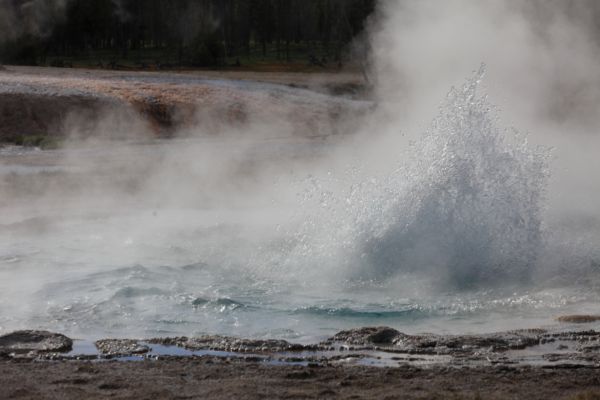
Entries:
<svg viewBox="0 0 600 400">
<path fill-rule="evenodd" d="M 542 247 L 547 151 L 499 128 L 477 95 L 484 73 L 482 65 L 450 91 L 410 161 L 391 173 L 310 178 L 306 222 L 284 264 L 338 276 L 341 267 L 349 281 L 411 275 L 451 289 L 527 282 Z M 349 189 L 333 189 L 340 183 Z"/>
</svg>

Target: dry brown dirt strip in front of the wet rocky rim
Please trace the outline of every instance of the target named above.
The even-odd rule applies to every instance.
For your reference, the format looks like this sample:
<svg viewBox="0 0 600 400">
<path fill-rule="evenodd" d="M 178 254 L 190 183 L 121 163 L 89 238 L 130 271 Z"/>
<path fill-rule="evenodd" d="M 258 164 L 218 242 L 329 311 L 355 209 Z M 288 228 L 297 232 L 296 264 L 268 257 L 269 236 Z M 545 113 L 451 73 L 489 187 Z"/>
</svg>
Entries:
<svg viewBox="0 0 600 400">
<path fill-rule="evenodd" d="M 600 399 L 597 368 L 269 366 L 214 358 L 2 361 L 2 399 Z"/>
</svg>

